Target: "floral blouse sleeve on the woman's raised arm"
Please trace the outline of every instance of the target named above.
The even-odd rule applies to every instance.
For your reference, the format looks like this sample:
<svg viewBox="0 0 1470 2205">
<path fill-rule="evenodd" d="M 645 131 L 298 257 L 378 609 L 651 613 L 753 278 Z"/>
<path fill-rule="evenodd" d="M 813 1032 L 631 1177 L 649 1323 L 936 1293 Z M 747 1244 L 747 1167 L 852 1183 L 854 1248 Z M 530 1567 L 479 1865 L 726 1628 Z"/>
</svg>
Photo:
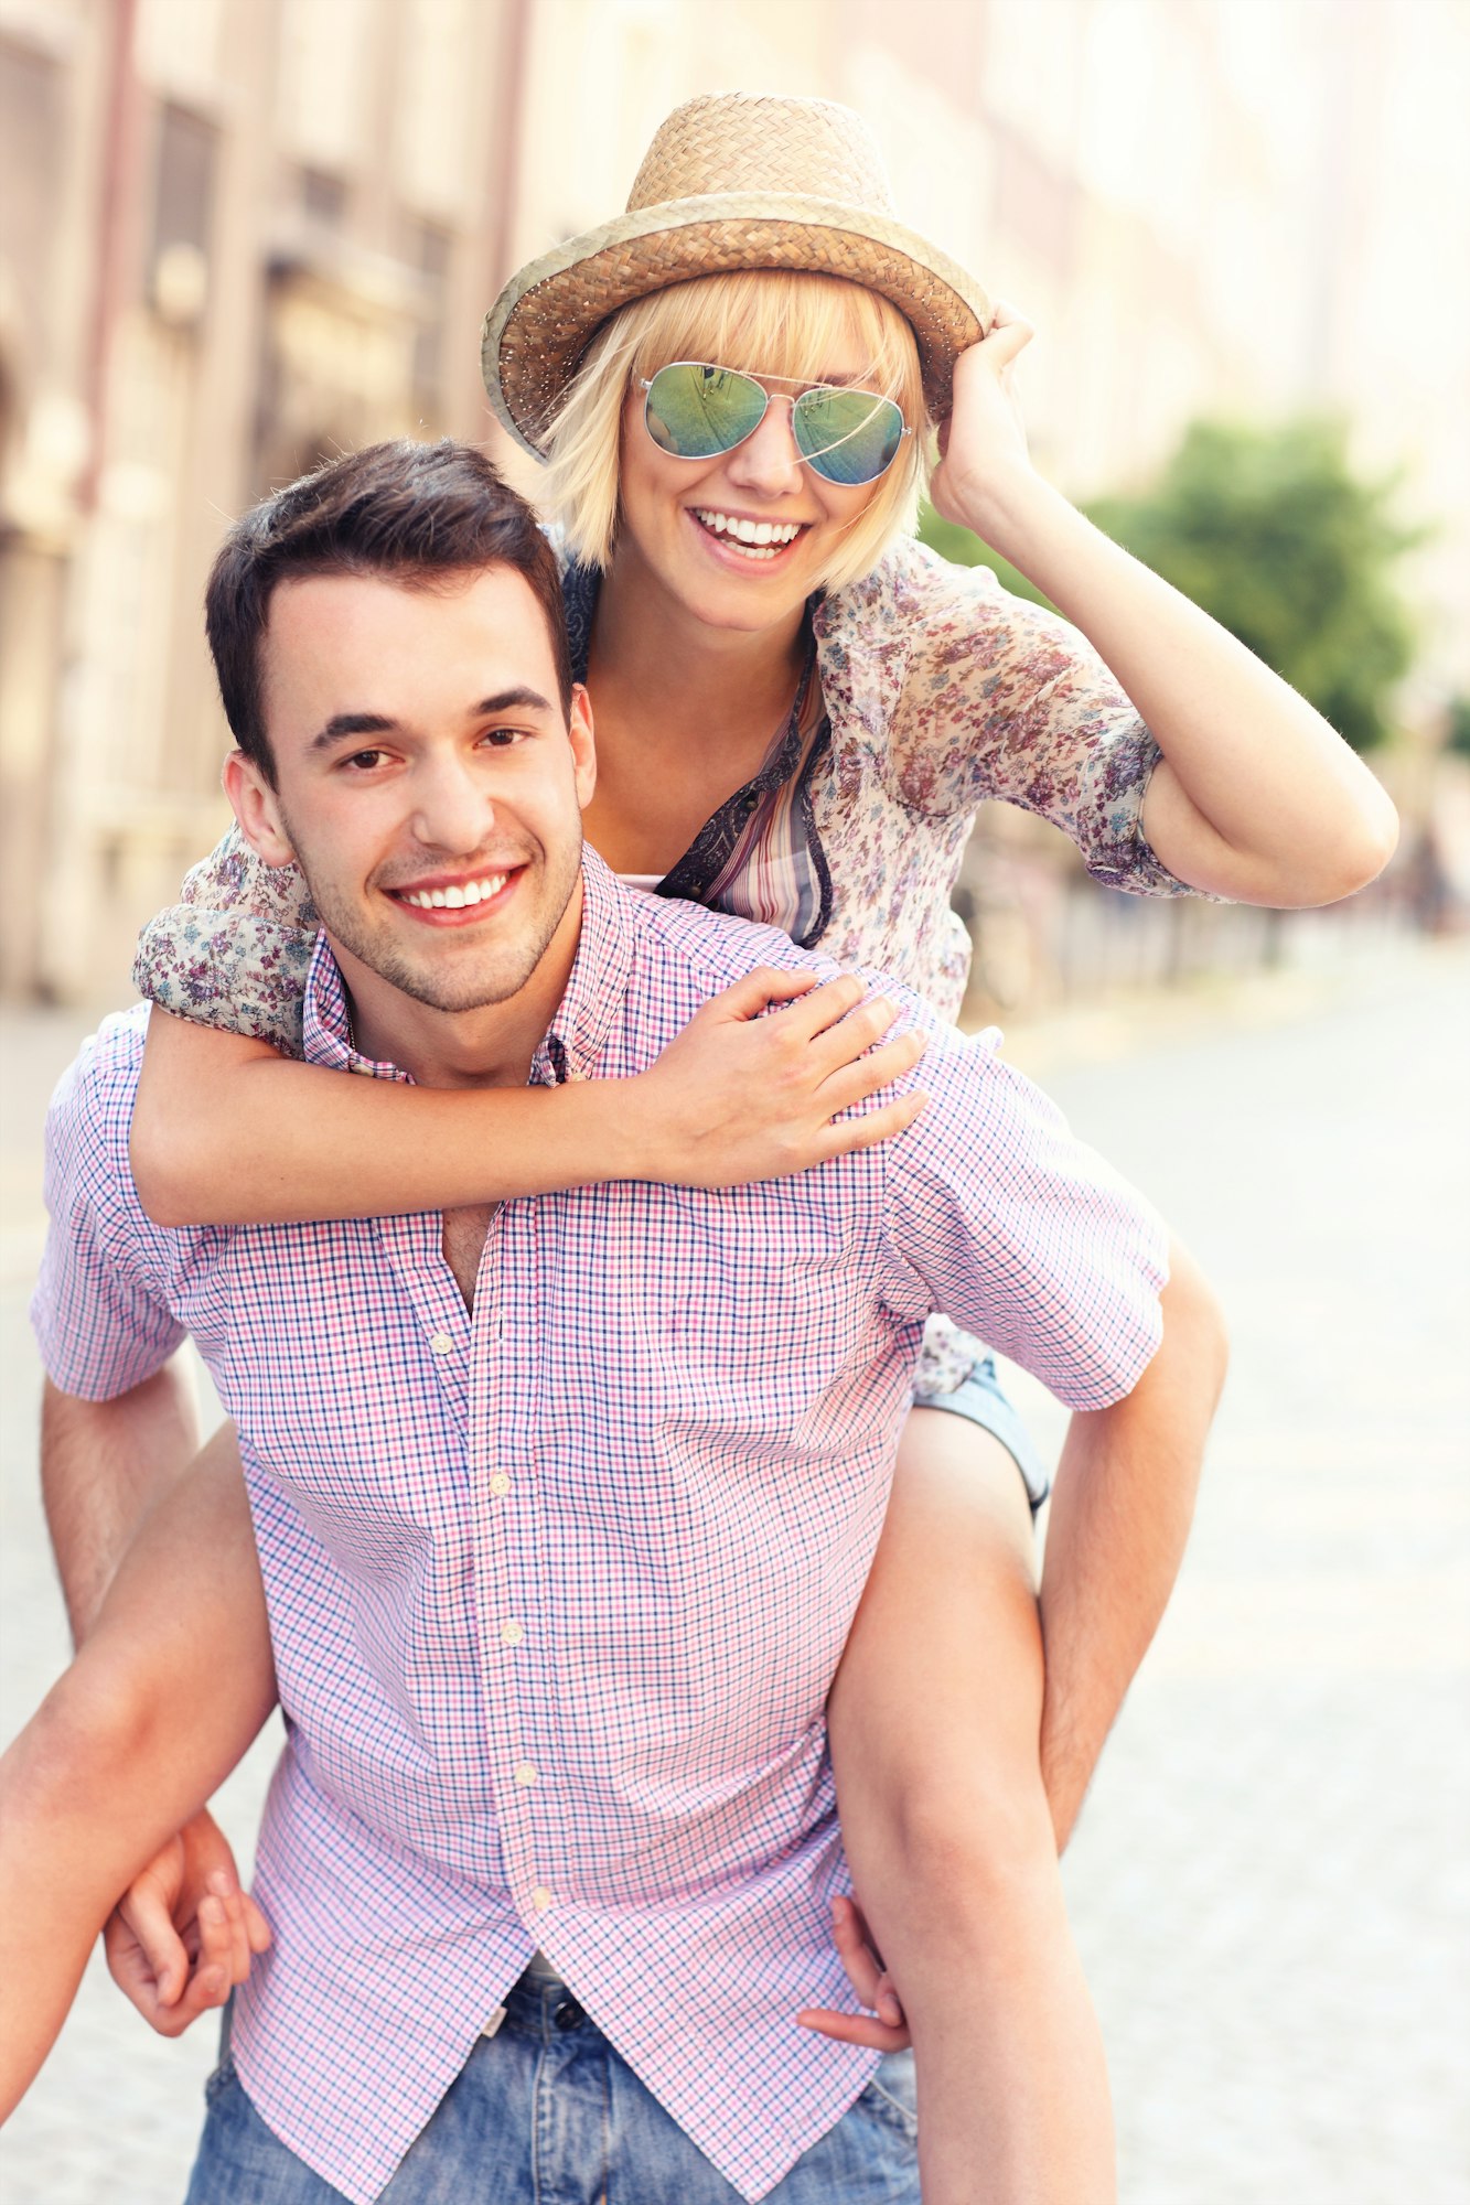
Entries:
<svg viewBox="0 0 1470 2205">
<path fill-rule="evenodd" d="M 993 796 L 1048 818 L 1110 889 L 1194 895 L 1143 833 L 1159 745 L 1086 635 L 925 545 L 901 549 L 894 591 L 909 646 L 890 723 L 903 803 L 945 816 Z"/>
</svg>

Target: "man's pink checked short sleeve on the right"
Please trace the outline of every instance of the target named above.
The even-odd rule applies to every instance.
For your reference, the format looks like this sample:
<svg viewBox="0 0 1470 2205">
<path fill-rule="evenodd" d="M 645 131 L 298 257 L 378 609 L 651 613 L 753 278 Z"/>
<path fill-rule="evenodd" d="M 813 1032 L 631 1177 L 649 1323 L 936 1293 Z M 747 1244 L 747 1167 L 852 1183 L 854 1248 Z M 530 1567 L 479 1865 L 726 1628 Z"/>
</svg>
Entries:
<svg viewBox="0 0 1470 2205">
<path fill-rule="evenodd" d="M 1106 1409 L 1159 1341 L 1168 1233 L 984 1041 L 936 1028 L 923 1118 L 887 1144 L 890 1303 L 945 1310 L 1068 1409 Z"/>
</svg>

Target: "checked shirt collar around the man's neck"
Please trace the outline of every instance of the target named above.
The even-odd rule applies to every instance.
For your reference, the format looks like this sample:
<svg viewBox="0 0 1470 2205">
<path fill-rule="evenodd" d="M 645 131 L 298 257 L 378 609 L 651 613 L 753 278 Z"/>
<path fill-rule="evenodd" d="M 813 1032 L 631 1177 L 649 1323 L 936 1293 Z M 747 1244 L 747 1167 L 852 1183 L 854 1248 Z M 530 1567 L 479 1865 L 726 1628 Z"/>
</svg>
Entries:
<svg viewBox="0 0 1470 2205">
<path fill-rule="evenodd" d="M 592 1076 L 627 994 L 631 966 L 633 897 L 598 853 L 583 847 L 583 928 L 556 1017 L 532 1056 L 532 1085 L 558 1087 Z M 408 1072 L 358 1047 L 347 981 L 324 933 L 316 937 L 307 970 L 302 1041 L 309 1065 L 362 1072 L 373 1080 L 411 1080 Z"/>
</svg>

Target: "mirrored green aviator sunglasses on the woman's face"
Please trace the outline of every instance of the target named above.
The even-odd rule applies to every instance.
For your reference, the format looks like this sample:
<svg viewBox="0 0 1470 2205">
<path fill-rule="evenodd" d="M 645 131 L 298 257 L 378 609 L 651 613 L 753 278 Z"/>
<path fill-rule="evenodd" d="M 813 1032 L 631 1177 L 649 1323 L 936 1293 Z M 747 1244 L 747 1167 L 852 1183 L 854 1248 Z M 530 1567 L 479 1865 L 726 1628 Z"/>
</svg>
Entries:
<svg viewBox="0 0 1470 2205">
<path fill-rule="evenodd" d="M 768 375 L 766 381 L 795 381 Z M 715 368 L 706 359 L 673 359 L 658 375 L 640 377 L 647 392 L 642 419 L 660 452 L 675 459 L 715 459 L 753 437 L 766 419 L 770 392 L 753 375 Z M 876 483 L 912 437 L 892 399 L 876 390 L 817 384 L 788 399 L 797 454 L 828 483 Z"/>
</svg>

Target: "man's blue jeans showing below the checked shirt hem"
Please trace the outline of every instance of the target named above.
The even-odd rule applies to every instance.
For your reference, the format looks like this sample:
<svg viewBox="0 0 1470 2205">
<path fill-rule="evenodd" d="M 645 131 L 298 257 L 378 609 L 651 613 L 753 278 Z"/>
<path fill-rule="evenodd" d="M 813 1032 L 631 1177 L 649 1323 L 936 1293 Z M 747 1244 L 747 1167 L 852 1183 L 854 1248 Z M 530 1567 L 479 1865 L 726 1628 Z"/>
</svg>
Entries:
<svg viewBox="0 0 1470 2205">
<path fill-rule="evenodd" d="M 227 2035 L 227 2024 L 225 2024 Z M 340 2205 L 223 2057 L 188 2205 Z M 766 2205 L 918 2205 L 914 2055 L 892 2053 Z M 382 2192 L 384 2205 L 739 2205 L 565 1984 L 523 1976 Z"/>
</svg>

